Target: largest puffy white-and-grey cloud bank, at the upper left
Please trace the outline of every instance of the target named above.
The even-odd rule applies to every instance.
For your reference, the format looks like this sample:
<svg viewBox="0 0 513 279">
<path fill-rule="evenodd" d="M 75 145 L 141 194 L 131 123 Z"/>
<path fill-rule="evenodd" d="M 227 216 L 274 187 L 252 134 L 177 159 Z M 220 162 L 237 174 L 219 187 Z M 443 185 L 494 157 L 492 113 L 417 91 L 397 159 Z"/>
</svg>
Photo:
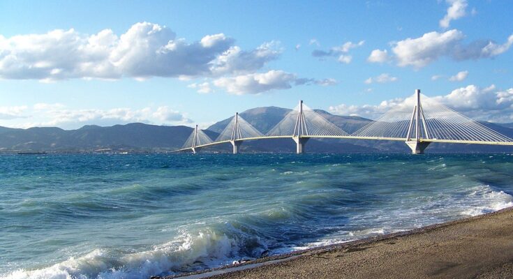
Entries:
<svg viewBox="0 0 513 279">
<path fill-rule="evenodd" d="M 223 33 L 188 43 L 158 24 L 139 22 L 117 36 L 75 29 L 0 36 L 0 78 L 43 81 L 70 78 L 202 77 L 256 70 L 281 50 L 265 43 L 244 51 Z"/>
</svg>

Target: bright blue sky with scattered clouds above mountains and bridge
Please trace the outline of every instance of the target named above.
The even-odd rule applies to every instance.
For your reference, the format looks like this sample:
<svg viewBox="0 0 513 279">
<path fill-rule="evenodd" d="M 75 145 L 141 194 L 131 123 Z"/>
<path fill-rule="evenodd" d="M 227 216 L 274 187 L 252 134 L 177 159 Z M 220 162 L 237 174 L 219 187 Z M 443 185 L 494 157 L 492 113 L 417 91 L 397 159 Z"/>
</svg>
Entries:
<svg viewBox="0 0 513 279">
<path fill-rule="evenodd" d="M 376 119 L 415 89 L 513 122 L 513 2 L 0 1 L 0 126 L 198 123 L 299 100 Z"/>
</svg>

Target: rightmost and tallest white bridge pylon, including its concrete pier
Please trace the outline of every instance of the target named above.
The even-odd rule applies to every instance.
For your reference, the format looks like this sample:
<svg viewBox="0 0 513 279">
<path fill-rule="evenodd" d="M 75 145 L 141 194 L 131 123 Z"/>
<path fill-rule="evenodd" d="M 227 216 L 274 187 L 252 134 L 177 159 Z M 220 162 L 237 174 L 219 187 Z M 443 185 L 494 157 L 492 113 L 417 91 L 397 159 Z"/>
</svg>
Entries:
<svg viewBox="0 0 513 279">
<path fill-rule="evenodd" d="M 426 149 L 430 142 L 422 140 L 429 140 L 429 131 L 420 102 L 420 89 L 416 89 L 415 106 L 413 107 L 410 124 L 408 125 L 408 134 L 406 135 L 406 144 L 412 150 L 412 154 L 424 154 L 424 149 Z"/>
</svg>

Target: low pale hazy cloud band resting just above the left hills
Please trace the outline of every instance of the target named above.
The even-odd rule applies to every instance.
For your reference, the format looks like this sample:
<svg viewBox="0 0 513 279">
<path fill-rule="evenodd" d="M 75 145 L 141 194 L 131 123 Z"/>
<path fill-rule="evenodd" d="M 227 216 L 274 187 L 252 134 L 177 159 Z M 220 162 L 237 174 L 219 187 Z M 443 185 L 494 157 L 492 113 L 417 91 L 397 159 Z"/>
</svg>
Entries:
<svg viewBox="0 0 513 279">
<path fill-rule="evenodd" d="M 0 115 L 3 113 L 3 109 L 5 108 L 0 107 Z M 8 110 L 13 117 L 2 118 L 0 116 L 0 125 L 15 128 L 57 126 L 65 129 L 75 129 L 91 124 L 112 126 L 142 122 L 158 125 L 190 125 L 193 122 L 185 114 L 172 110 L 168 106 L 144 107 L 138 110 L 127 107 L 117 107 L 109 110 L 73 110 L 60 104 L 39 103 L 32 107 L 10 107 Z M 15 119 L 17 121 L 14 121 Z M 20 119 L 22 120 L 20 121 Z"/>
</svg>

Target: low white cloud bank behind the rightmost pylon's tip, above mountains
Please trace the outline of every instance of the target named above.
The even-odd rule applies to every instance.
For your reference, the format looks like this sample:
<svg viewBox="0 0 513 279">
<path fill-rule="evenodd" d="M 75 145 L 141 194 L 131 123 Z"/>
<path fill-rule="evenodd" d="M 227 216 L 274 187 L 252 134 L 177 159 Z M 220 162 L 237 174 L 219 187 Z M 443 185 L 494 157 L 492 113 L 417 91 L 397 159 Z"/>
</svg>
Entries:
<svg viewBox="0 0 513 279">
<path fill-rule="evenodd" d="M 383 100 L 379 105 L 335 105 L 329 112 L 339 115 L 362 116 L 377 119 L 389 110 L 412 110 L 414 96 Z M 496 86 L 481 88 L 473 84 L 454 89 L 442 96 L 424 99 L 424 106 L 429 103 L 443 103 L 471 119 L 507 123 L 513 121 L 513 88 L 497 90 Z"/>
</svg>

